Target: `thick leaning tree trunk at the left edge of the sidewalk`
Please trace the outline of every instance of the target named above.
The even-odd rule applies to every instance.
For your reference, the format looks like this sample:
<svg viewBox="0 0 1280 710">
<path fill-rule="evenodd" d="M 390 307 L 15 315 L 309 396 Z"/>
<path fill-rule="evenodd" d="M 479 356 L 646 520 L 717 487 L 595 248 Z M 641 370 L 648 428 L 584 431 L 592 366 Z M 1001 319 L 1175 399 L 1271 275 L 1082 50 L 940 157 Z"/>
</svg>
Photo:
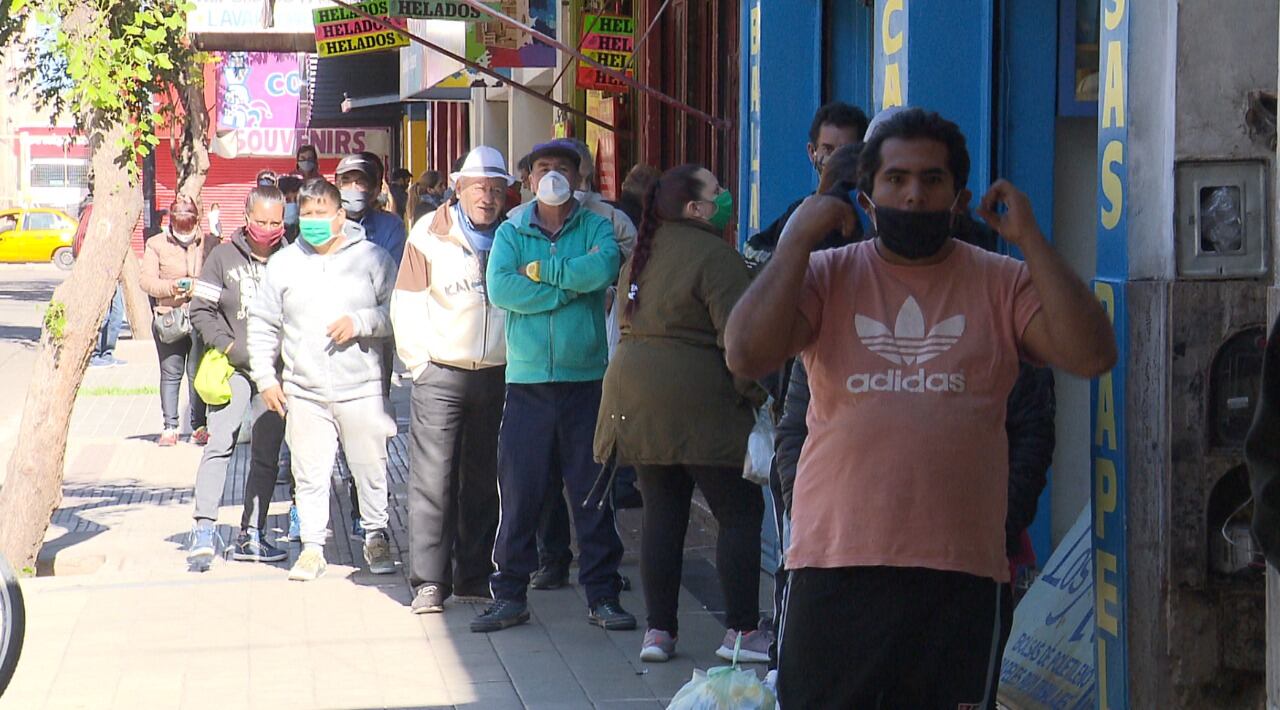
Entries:
<svg viewBox="0 0 1280 710">
<path fill-rule="evenodd" d="M 50 517 L 61 501 L 76 394 L 142 211 L 137 179 L 116 164 L 125 129 L 95 119 L 86 133 L 93 155 L 95 205 L 88 226 L 93 238 L 84 241 L 74 269 L 50 301 L 50 316 L 58 310 L 65 315 L 46 317 L 18 443 L 0 489 L 0 553 L 18 569 L 35 567 Z"/>
</svg>

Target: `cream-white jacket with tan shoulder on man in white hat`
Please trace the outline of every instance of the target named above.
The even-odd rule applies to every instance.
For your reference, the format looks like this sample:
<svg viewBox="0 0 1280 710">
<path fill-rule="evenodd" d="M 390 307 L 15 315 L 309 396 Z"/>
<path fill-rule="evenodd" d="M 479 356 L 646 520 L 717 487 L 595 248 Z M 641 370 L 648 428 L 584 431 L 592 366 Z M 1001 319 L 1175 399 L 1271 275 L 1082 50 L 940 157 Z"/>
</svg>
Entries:
<svg viewBox="0 0 1280 710">
<path fill-rule="evenodd" d="M 429 362 L 463 370 L 507 363 L 507 316 L 489 302 L 488 260 L 448 203 L 413 225 L 392 294 L 392 329 L 415 380 Z"/>
</svg>

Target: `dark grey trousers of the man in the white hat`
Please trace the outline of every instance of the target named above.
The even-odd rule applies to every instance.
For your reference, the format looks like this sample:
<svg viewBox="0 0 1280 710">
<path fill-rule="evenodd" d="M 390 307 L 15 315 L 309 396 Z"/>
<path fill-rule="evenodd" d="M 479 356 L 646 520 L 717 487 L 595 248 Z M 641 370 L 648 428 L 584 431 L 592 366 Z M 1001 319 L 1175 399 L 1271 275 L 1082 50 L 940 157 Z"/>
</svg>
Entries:
<svg viewBox="0 0 1280 710">
<path fill-rule="evenodd" d="M 472 592 L 493 573 L 498 427 L 504 367 L 430 363 L 413 381 L 410 425 L 410 585 Z"/>
</svg>

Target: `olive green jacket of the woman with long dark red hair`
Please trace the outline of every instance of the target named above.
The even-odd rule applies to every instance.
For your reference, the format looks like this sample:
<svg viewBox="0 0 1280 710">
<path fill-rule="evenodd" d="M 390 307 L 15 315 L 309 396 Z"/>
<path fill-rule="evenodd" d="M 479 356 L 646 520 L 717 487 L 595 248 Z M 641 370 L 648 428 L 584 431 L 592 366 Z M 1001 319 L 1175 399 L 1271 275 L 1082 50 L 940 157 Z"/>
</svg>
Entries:
<svg viewBox="0 0 1280 710">
<path fill-rule="evenodd" d="M 730 374 L 724 322 L 750 283 L 741 255 L 694 223 L 654 234 L 626 316 L 631 262 L 618 299 L 622 339 L 604 375 L 595 458 L 620 464 L 742 466 L 764 390 Z"/>
</svg>

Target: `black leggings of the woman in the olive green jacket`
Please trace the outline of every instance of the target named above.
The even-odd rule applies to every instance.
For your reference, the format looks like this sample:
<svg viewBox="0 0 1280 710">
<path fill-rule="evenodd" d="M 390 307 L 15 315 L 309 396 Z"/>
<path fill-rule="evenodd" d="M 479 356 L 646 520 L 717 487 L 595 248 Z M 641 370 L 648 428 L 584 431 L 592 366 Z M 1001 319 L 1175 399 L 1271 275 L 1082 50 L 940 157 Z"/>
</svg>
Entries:
<svg viewBox="0 0 1280 710">
<path fill-rule="evenodd" d="M 728 628 L 753 631 L 760 620 L 760 487 L 742 478 L 740 468 L 704 466 L 637 466 L 644 495 L 644 532 L 640 536 L 640 578 L 649 628 L 671 632 L 680 599 L 680 573 L 685 559 L 685 532 L 694 485 L 703 491 L 719 535 L 716 571 L 724 592 Z"/>
</svg>

